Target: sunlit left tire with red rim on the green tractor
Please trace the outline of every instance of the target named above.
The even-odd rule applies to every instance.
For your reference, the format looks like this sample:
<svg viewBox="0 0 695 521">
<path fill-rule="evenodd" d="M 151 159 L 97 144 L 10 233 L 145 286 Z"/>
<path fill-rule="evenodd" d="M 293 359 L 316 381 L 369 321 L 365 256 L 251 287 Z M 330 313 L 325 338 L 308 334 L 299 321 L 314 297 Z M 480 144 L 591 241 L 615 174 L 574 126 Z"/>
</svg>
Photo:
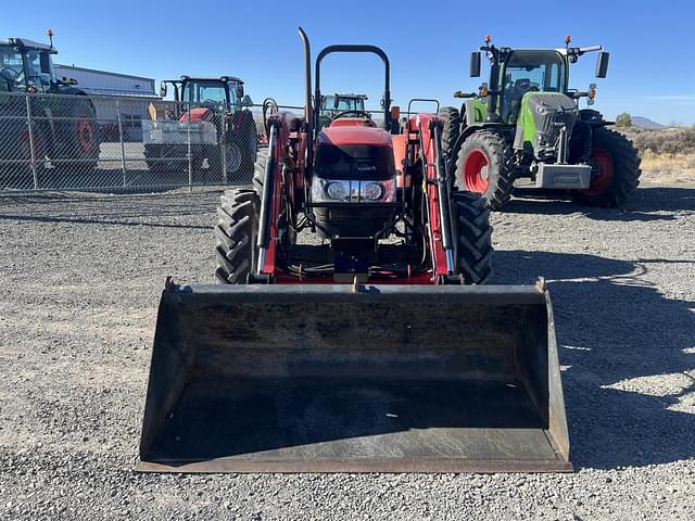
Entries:
<svg viewBox="0 0 695 521">
<path fill-rule="evenodd" d="M 500 134 L 491 130 L 471 134 L 458 151 L 456 186 L 480 193 L 488 207 L 501 209 L 514 190 L 514 173 L 507 166 L 510 154 Z"/>
</svg>

